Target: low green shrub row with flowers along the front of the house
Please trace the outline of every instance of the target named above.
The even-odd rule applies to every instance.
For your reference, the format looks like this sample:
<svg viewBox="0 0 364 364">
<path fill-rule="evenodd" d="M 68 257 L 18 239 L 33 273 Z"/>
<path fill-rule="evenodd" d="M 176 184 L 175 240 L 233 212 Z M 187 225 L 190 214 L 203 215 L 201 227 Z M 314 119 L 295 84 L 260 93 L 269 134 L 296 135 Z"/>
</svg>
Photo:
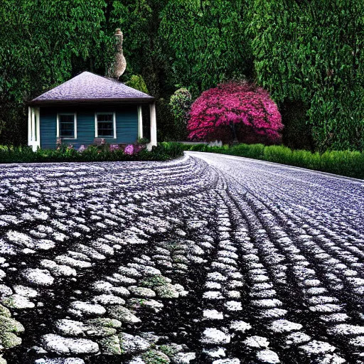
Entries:
<svg viewBox="0 0 364 364">
<path fill-rule="evenodd" d="M 29 146 L 0 146 L 1 163 L 40 162 L 92 162 L 92 161 L 168 161 L 183 156 L 183 146 L 175 142 L 162 142 L 151 151 L 143 149 L 136 154 L 125 154 L 122 149 L 89 146 L 80 152 L 73 148 L 38 149 Z"/>
</svg>

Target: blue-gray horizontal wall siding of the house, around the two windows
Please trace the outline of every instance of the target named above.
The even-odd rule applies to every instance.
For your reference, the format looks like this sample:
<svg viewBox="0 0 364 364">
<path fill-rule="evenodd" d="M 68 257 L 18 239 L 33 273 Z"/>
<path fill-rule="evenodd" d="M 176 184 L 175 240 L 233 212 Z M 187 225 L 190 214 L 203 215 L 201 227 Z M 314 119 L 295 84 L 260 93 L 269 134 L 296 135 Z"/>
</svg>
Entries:
<svg viewBox="0 0 364 364">
<path fill-rule="evenodd" d="M 97 109 L 72 109 L 41 107 L 41 148 L 55 149 L 57 141 L 57 113 L 77 113 L 77 139 L 65 139 L 64 143 L 76 147 L 87 146 L 95 139 L 95 112 L 115 112 L 117 124 L 117 139 L 105 138 L 110 144 L 134 143 L 138 138 L 137 106 Z"/>
</svg>

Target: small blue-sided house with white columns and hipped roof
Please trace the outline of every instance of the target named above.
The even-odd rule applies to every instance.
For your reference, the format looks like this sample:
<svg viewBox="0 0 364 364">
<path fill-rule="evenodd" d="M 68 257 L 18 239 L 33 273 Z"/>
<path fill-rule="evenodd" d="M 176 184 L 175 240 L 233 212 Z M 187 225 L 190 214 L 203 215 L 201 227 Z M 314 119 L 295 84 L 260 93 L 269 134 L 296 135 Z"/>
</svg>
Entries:
<svg viewBox="0 0 364 364">
<path fill-rule="evenodd" d="M 151 140 L 156 145 L 154 97 L 114 79 L 83 72 L 28 102 L 28 145 L 75 148 L 104 139 L 132 144 L 143 137 L 141 105 L 149 105 Z"/>
</svg>

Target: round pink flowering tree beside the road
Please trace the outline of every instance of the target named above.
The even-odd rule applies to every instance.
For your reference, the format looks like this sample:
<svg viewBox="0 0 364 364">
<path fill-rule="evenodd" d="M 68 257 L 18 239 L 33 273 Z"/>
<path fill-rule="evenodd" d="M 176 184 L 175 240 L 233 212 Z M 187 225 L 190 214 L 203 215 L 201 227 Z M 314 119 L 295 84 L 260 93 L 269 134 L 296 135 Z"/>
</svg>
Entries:
<svg viewBox="0 0 364 364">
<path fill-rule="evenodd" d="M 245 81 L 228 82 L 193 102 L 188 138 L 277 144 L 282 129 L 281 114 L 266 90 Z"/>
</svg>

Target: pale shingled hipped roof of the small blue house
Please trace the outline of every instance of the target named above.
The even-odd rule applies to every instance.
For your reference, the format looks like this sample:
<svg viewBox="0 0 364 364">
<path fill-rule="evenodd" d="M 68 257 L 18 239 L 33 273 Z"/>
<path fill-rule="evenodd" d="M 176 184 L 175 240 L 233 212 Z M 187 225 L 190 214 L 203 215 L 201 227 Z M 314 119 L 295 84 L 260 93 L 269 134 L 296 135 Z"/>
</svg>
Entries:
<svg viewBox="0 0 364 364">
<path fill-rule="evenodd" d="M 151 102 L 154 97 L 117 80 L 83 72 L 28 102 L 31 106 Z"/>
</svg>

